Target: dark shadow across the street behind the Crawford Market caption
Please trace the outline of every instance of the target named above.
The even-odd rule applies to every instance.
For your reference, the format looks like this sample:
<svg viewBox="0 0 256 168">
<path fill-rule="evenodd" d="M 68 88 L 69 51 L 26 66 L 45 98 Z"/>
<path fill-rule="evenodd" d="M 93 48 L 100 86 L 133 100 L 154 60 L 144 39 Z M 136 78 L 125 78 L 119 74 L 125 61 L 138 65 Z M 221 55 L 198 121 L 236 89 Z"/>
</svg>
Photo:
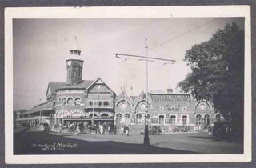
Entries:
<svg viewBox="0 0 256 168">
<path fill-rule="evenodd" d="M 142 146 L 123 142 L 89 142 L 42 132 L 14 133 L 14 154 L 199 154 L 186 150 Z"/>
</svg>

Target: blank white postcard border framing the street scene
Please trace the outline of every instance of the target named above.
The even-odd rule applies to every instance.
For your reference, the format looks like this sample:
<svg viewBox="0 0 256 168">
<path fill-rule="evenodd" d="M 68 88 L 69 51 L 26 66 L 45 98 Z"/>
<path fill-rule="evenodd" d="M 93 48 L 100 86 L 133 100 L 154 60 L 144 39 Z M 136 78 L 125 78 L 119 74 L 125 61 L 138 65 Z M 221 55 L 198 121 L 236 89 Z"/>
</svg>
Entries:
<svg viewBox="0 0 256 168">
<path fill-rule="evenodd" d="M 250 162 L 251 145 L 251 32 L 250 6 L 126 6 L 34 7 L 5 9 L 5 153 L 6 163 L 139 163 L 139 162 Z M 186 12 L 184 12 L 186 11 Z M 201 18 L 245 17 L 245 128 L 244 154 L 143 155 L 14 155 L 13 154 L 13 18 Z"/>
</svg>

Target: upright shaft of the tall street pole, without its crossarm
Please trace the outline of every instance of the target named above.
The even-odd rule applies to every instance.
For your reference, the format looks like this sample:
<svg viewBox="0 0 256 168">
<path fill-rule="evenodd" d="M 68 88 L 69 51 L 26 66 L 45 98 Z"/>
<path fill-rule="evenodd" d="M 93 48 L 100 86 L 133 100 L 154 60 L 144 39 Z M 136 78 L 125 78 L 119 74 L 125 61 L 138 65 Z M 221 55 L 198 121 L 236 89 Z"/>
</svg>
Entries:
<svg viewBox="0 0 256 168">
<path fill-rule="evenodd" d="M 148 121 L 148 56 L 147 56 L 147 38 L 145 39 L 145 101 L 146 101 L 146 108 L 145 108 L 145 134 L 144 134 L 144 143 L 143 145 L 149 146 L 150 145 L 150 138 L 149 138 L 149 121 Z"/>
</svg>

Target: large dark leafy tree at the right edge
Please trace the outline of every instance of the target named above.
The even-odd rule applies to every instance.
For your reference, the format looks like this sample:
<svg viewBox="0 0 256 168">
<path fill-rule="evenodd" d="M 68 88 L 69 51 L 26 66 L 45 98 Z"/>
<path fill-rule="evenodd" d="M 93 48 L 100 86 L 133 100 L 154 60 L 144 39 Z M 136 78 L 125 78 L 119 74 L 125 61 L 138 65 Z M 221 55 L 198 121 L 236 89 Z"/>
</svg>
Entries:
<svg viewBox="0 0 256 168">
<path fill-rule="evenodd" d="M 224 118 L 243 126 L 244 30 L 236 23 L 218 30 L 209 41 L 186 51 L 190 73 L 178 83 L 197 100 L 213 102 Z"/>
</svg>

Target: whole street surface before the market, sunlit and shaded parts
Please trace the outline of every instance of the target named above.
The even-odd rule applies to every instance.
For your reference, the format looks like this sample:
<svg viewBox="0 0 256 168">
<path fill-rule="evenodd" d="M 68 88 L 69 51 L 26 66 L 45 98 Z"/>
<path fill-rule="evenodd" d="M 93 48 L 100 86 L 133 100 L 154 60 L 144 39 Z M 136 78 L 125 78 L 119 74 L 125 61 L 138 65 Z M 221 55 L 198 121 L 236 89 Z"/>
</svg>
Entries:
<svg viewBox="0 0 256 168">
<path fill-rule="evenodd" d="M 142 135 L 50 133 L 38 130 L 14 133 L 14 154 L 242 154 L 242 143 L 214 141 L 206 132 L 150 135 L 151 146 L 142 146 Z"/>
</svg>

